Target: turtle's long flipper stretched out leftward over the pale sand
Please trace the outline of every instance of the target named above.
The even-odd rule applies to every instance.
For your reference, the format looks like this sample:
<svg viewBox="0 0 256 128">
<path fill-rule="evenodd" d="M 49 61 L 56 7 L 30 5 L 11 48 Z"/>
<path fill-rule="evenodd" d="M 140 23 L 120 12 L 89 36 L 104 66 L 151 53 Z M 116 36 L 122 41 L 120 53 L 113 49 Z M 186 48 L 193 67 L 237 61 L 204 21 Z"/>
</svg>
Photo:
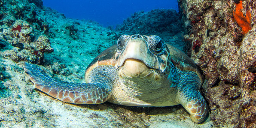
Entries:
<svg viewBox="0 0 256 128">
<path fill-rule="evenodd" d="M 23 64 L 25 73 L 34 83 L 34 88 L 59 99 L 74 104 L 100 104 L 110 97 L 111 88 L 97 83 L 68 83 L 49 77 L 36 64 Z"/>
</svg>

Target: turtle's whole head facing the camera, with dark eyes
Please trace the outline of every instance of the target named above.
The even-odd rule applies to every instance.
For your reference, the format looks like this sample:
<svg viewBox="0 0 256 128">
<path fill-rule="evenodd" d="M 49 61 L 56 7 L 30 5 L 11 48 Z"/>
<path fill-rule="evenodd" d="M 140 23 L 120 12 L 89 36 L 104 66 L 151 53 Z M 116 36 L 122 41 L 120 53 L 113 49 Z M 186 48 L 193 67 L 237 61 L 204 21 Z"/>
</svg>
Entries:
<svg viewBox="0 0 256 128">
<path fill-rule="evenodd" d="M 120 77 L 161 79 L 170 72 L 169 49 L 156 35 L 121 35 L 117 40 L 116 70 Z"/>
</svg>

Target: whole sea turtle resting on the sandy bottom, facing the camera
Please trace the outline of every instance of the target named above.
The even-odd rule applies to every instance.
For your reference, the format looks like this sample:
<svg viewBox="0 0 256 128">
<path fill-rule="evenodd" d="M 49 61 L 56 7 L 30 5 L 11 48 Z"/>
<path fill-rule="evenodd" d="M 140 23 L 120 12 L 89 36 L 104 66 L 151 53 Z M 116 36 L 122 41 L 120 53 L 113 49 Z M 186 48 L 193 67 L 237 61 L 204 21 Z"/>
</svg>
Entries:
<svg viewBox="0 0 256 128">
<path fill-rule="evenodd" d="M 199 92 L 202 77 L 193 61 L 156 35 L 121 35 L 85 71 L 86 83 L 69 83 L 49 77 L 35 65 L 24 63 L 34 88 L 73 104 L 111 102 L 129 106 L 181 104 L 192 121 L 208 115 Z"/>
</svg>

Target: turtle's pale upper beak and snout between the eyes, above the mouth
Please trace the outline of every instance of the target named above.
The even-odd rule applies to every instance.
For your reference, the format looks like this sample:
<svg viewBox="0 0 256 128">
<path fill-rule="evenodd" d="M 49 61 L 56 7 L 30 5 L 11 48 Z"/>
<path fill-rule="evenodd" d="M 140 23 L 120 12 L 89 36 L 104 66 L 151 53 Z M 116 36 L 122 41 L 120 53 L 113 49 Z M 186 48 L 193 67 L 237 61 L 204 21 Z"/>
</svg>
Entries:
<svg viewBox="0 0 256 128">
<path fill-rule="evenodd" d="M 119 58 L 116 62 L 116 69 L 122 67 L 126 60 L 143 62 L 148 68 L 159 69 L 158 58 L 149 51 L 147 41 L 141 35 L 136 34 L 131 36 L 125 49 L 119 54 Z"/>
</svg>

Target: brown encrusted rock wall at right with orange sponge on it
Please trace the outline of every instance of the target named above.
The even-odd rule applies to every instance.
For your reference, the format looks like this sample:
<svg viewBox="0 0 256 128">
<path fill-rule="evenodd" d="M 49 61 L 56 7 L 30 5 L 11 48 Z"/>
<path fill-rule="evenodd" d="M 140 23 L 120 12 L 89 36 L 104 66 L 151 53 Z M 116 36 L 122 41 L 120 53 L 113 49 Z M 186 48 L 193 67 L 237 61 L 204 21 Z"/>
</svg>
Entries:
<svg viewBox="0 0 256 128">
<path fill-rule="evenodd" d="M 256 1 L 178 0 L 186 53 L 205 76 L 217 127 L 256 126 Z"/>
</svg>

